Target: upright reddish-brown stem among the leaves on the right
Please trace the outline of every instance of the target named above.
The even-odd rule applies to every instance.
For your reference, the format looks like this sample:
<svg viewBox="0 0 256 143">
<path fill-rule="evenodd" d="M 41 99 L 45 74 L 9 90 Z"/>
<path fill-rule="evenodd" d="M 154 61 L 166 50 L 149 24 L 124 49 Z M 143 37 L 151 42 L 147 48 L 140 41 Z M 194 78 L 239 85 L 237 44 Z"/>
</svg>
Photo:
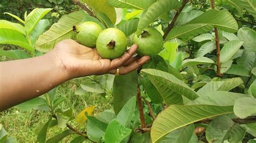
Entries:
<svg viewBox="0 0 256 143">
<path fill-rule="evenodd" d="M 215 9 L 214 6 L 214 0 L 211 0 L 211 8 Z M 218 29 L 217 27 L 214 27 L 214 33 L 215 33 L 215 42 L 216 42 L 216 49 L 217 49 L 217 76 L 221 77 L 222 74 L 220 73 L 220 40 L 219 40 L 219 34 L 218 34 Z"/>
</svg>

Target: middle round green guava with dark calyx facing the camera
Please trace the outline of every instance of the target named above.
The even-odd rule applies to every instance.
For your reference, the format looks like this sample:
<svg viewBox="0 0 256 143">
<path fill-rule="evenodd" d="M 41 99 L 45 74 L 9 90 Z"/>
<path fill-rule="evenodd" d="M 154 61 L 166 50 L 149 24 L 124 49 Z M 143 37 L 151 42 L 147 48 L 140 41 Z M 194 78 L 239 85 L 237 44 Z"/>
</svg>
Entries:
<svg viewBox="0 0 256 143">
<path fill-rule="evenodd" d="M 104 59 L 118 58 L 126 51 L 126 36 L 117 28 L 107 28 L 99 34 L 96 48 L 99 55 Z"/>
</svg>

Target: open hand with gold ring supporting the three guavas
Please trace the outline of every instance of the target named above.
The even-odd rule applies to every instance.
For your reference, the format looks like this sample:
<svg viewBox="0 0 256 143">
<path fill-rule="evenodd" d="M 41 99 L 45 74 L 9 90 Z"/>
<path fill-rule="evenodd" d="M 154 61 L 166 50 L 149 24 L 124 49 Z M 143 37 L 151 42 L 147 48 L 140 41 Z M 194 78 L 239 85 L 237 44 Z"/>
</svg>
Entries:
<svg viewBox="0 0 256 143">
<path fill-rule="evenodd" d="M 50 52 L 57 58 L 63 71 L 68 77 L 82 77 L 89 75 L 115 74 L 119 68 L 119 74 L 127 74 L 142 66 L 150 59 L 149 56 L 133 57 L 138 46 L 133 45 L 117 59 L 102 59 L 96 48 L 89 48 L 78 44 L 76 41 L 66 39 L 59 42 Z"/>
</svg>

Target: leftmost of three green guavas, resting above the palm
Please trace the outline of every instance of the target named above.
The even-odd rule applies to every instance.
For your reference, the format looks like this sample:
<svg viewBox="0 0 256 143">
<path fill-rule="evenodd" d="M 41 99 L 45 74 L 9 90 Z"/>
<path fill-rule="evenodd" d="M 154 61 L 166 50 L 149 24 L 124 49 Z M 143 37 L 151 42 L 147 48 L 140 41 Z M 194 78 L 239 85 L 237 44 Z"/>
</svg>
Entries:
<svg viewBox="0 0 256 143">
<path fill-rule="evenodd" d="M 84 22 L 76 27 L 77 32 L 77 42 L 86 47 L 95 48 L 96 41 L 100 32 L 102 32 L 102 27 L 97 23 Z"/>
</svg>

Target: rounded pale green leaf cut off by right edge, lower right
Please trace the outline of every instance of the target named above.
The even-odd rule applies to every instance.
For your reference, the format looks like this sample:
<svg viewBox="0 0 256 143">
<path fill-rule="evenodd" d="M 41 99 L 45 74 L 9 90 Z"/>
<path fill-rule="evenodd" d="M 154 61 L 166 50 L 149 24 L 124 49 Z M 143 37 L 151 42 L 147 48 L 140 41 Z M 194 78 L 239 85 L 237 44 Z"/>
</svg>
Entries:
<svg viewBox="0 0 256 143">
<path fill-rule="evenodd" d="M 237 99 L 234 104 L 235 116 L 246 118 L 256 113 L 256 98 L 243 97 Z"/>
</svg>

